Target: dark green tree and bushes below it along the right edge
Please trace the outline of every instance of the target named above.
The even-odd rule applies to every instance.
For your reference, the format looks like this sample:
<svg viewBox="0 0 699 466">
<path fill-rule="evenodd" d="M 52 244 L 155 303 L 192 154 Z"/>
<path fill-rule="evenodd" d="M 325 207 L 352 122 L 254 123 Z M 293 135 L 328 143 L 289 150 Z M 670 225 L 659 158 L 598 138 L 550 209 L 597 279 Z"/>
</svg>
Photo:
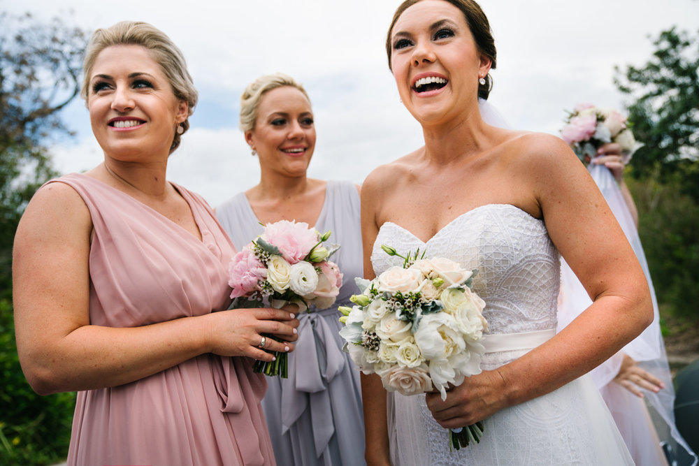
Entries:
<svg viewBox="0 0 699 466">
<path fill-rule="evenodd" d="M 658 301 L 699 319 L 699 34 L 675 28 L 653 41 L 644 66 L 617 67 L 633 133 L 644 143 L 630 161 L 638 233 Z"/>
</svg>

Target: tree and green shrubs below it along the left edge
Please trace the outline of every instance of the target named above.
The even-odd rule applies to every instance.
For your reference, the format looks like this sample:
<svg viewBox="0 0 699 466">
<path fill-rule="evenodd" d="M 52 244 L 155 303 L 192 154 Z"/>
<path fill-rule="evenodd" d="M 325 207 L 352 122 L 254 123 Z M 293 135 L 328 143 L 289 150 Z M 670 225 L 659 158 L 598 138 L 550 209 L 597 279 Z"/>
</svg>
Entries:
<svg viewBox="0 0 699 466">
<path fill-rule="evenodd" d="M 60 111 L 78 95 L 85 31 L 0 13 L 0 465 L 65 458 L 74 393 L 41 397 L 17 358 L 11 252 L 17 223 L 50 177 L 48 145 L 70 136 Z"/>
</svg>

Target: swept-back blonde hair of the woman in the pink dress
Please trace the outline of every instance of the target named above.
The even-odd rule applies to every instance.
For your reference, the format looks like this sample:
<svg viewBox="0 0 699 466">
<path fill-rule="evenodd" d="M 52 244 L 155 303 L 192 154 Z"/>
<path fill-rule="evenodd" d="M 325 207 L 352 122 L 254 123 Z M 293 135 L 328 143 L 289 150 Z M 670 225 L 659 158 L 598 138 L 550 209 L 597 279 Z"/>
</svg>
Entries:
<svg viewBox="0 0 699 466">
<path fill-rule="evenodd" d="M 175 99 L 187 102 L 189 115 L 194 112 L 194 106 L 198 99 L 198 93 L 194 88 L 192 76 L 187 71 L 187 62 L 182 50 L 170 40 L 166 34 L 157 27 L 147 22 L 122 21 L 112 27 L 97 29 L 87 43 L 85 59 L 82 62 L 82 89 L 80 96 L 89 98 L 89 79 L 92 67 L 99 53 L 113 45 L 140 45 L 147 48 L 150 57 L 160 65 L 167 80 L 170 82 Z M 189 117 L 180 123 L 182 129 L 189 129 Z M 182 131 L 182 133 L 185 133 Z M 180 145 L 182 134 L 175 131 L 173 143 L 170 147 L 172 154 Z"/>
</svg>

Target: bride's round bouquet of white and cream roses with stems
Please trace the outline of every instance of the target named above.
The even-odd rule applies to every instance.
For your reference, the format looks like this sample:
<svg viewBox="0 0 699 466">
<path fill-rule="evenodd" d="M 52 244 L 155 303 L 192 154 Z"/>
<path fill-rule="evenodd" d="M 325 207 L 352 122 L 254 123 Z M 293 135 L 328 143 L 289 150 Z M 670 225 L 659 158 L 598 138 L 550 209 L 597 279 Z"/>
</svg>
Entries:
<svg viewBox="0 0 699 466">
<path fill-rule="evenodd" d="M 372 281 L 358 278 L 362 293 L 354 307 L 339 308 L 345 327 L 343 348 L 364 374 L 377 374 L 387 391 L 417 395 L 438 390 L 442 400 L 449 384 L 480 374 L 485 348 L 480 343 L 488 323 L 484 301 L 471 290 L 477 270 L 444 258 L 418 259 L 419 251 Z M 449 448 L 480 442 L 481 422 L 449 431 Z"/>
</svg>

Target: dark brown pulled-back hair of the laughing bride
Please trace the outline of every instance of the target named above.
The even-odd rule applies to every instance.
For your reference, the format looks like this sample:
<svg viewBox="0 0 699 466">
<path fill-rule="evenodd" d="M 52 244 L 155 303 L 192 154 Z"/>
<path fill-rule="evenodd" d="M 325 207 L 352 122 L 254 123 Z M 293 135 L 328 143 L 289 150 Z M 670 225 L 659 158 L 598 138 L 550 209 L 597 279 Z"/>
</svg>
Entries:
<svg viewBox="0 0 699 466">
<path fill-rule="evenodd" d="M 389 69 L 391 69 L 391 34 L 393 34 L 393 28 L 396 25 L 398 18 L 403 15 L 403 12 L 415 5 L 415 3 L 420 0 L 405 0 L 398 6 L 396 13 L 394 14 L 394 19 L 391 21 L 391 27 L 389 27 L 389 34 L 386 38 L 386 53 L 389 57 Z M 459 8 L 463 13 L 463 17 L 466 19 L 466 24 L 468 24 L 468 29 L 471 30 L 473 38 L 475 40 L 478 50 L 485 54 L 491 61 L 491 69 L 496 67 L 496 57 L 497 50 L 495 48 L 495 39 L 493 38 L 493 32 L 490 29 L 490 23 L 485 13 L 481 9 L 480 5 L 473 0 L 442 0 L 447 3 L 452 3 L 452 5 Z M 391 69 L 391 71 L 393 71 Z M 490 90 L 493 88 L 493 78 L 491 78 L 490 73 L 485 77 L 485 84 L 478 85 L 478 96 L 481 99 L 488 99 Z"/>
</svg>

